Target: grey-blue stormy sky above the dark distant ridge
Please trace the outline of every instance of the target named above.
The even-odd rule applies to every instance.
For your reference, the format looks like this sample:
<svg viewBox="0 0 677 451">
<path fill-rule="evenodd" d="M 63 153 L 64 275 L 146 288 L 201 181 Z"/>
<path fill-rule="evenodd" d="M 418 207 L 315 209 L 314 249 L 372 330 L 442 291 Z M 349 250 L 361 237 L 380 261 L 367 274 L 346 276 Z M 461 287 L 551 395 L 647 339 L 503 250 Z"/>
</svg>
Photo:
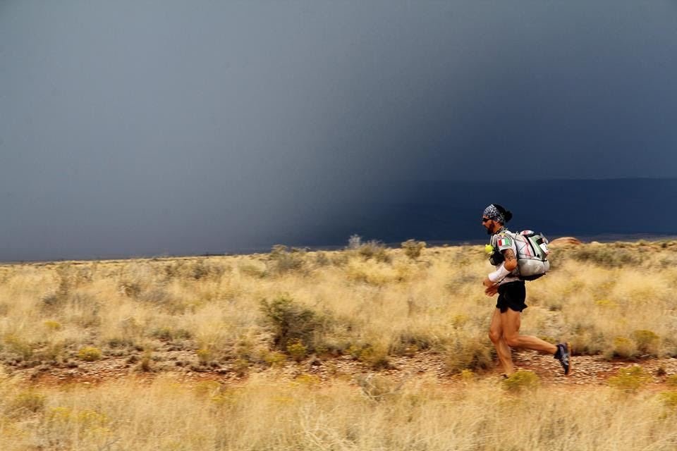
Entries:
<svg viewBox="0 0 677 451">
<path fill-rule="evenodd" d="M 676 1 L 2 0 L 0 259 L 254 246 L 381 180 L 676 177 L 676 118 Z"/>
</svg>

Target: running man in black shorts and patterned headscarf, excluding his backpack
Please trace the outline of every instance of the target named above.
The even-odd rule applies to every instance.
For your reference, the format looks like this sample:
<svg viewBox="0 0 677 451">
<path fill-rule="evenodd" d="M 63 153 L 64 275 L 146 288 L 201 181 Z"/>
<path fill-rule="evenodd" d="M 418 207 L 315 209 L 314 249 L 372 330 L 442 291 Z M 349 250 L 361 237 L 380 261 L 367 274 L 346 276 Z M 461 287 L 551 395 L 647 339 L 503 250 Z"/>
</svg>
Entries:
<svg viewBox="0 0 677 451">
<path fill-rule="evenodd" d="M 571 347 L 568 343 L 552 345 L 532 335 L 520 335 L 520 314 L 527 308 L 525 304 L 526 290 L 524 280 L 516 276 L 517 247 L 513 234 L 505 224 L 510 221 L 513 214 L 498 204 L 491 204 L 484 209 L 482 214 L 482 226 L 487 229 L 487 234 L 492 235 L 492 247 L 494 254 L 498 252 L 499 260 L 495 261 L 496 271 L 490 273 L 484 279 L 484 292 L 487 296 L 499 294 L 496 309 L 492 316 L 492 324 L 489 327 L 489 338 L 496 347 L 496 353 L 504 369 L 504 374 L 510 376 L 515 372 L 511 347 L 522 347 L 527 350 L 535 350 L 554 355 L 558 359 L 564 374 L 571 371 Z"/>
</svg>

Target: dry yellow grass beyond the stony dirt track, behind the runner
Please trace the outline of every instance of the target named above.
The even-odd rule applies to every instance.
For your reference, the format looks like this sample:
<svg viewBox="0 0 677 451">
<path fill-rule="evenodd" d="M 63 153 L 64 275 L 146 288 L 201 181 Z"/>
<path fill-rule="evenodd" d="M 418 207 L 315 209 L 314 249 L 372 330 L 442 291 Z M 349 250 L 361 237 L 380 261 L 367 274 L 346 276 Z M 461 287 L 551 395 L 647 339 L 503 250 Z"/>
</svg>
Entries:
<svg viewBox="0 0 677 451">
<path fill-rule="evenodd" d="M 523 330 L 570 340 L 587 354 L 677 354 L 676 248 L 667 242 L 559 249 L 554 270 L 528 285 Z M 97 347 L 105 358 L 171 341 L 217 360 L 255 362 L 272 344 L 262 300 L 281 297 L 322 322 L 321 330 L 299 337 L 312 340 L 303 343 L 311 353 L 444 352 L 470 340 L 490 350 L 485 332 L 494 299 L 480 286 L 488 270 L 481 247 L 424 249 L 417 259 L 402 249 L 278 248 L 233 257 L 2 266 L 0 357 L 54 362 Z"/>
</svg>

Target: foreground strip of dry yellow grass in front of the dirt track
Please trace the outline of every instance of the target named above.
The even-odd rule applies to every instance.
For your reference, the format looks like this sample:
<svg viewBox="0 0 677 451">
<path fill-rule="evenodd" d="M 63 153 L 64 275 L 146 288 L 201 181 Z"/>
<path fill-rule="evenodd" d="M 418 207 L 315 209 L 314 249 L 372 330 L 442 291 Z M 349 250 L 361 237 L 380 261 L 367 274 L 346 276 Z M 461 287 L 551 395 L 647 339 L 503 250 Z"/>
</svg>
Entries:
<svg viewBox="0 0 677 451">
<path fill-rule="evenodd" d="M 26 391 L 0 385 L 0 443 L 18 450 L 673 450 L 677 411 L 611 388 L 508 393 L 407 383 L 380 397 L 336 381 L 239 387 L 158 378 Z"/>
</svg>

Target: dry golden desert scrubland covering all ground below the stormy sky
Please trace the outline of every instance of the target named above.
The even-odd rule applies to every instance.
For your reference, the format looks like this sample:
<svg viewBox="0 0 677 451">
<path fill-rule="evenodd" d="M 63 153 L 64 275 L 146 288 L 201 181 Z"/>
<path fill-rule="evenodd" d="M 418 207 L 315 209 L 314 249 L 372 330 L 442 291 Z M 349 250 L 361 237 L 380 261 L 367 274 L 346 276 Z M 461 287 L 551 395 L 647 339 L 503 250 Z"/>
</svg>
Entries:
<svg viewBox="0 0 677 451">
<path fill-rule="evenodd" d="M 677 447 L 677 242 L 554 247 L 528 283 L 523 333 L 628 363 L 596 385 L 502 381 L 483 247 L 421 244 L 0 266 L 1 449 Z"/>
</svg>

